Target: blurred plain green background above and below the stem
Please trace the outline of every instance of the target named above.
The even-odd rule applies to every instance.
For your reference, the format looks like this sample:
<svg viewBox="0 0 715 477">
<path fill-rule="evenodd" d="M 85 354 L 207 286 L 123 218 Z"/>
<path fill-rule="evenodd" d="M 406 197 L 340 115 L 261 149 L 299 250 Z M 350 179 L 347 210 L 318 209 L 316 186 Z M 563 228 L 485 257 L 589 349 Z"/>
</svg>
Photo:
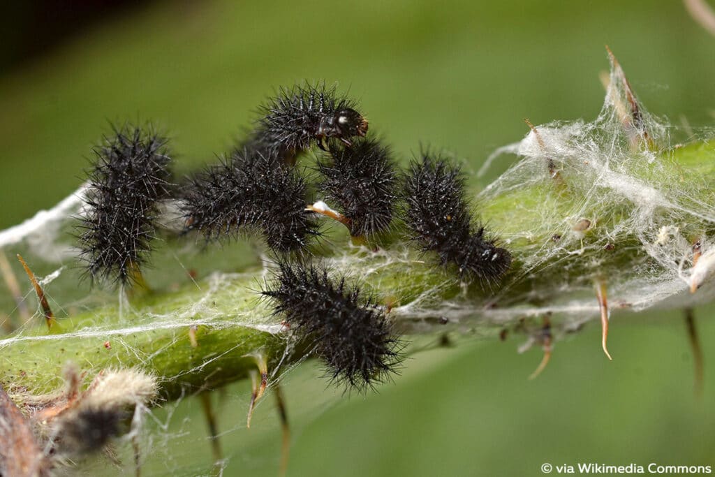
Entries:
<svg viewBox="0 0 715 477">
<path fill-rule="evenodd" d="M 651 112 L 694 128 L 715 122 L 715 37 L 674 0 L 158 1 L 115 11 L 4 68 L 0 227 L 74 190 L 109 122 L 159 124 L 187 172 L 230 147 L 274 87 L 304 79 L 349 89 L 370 131 L 403 158 L 428 143 L 476 170 L 495 147 L 523 137 L 525 117 L 534 124 L 595 117 L 606 44 Z M 583 461 L 713 466 L 715 325 L 711 310 L 696 315 L 706 357 L 701 400 L 680 313 L 614 315 L 613 362 L 589 326 L 557 343 L 535 381 L 527 377 L 541 353 L 518 355 L 518 336 L 418 353 L 393 385 L 364 398 L 327 389 L 308 363 L 283 380 L 293 426 L 288 473 L 540 475 L 544 462 Z M 261 403 L 248 431 L 249 392 L 239 383 L 214 396 L 224 475 L 273 476 L 280 448 L 273 401 Z M 209 473 L 195 398 L 149 422 L 155 437 L 144 476 Z M 86 472 L 115 471 L 100 463 Z"/>
</svg>

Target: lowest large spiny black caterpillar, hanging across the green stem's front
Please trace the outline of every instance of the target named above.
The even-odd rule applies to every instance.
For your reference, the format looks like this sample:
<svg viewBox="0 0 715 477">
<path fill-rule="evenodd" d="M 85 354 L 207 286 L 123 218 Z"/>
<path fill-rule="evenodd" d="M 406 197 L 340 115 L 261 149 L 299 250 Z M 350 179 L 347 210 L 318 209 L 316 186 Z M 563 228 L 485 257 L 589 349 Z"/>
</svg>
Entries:
<svg viewBox="0 0 715 477">
<path fill-rule="evenodd" d="M 363 391 L 395 373 L 400 340 L 385 313 L 345 277 L 333 281 L 320 265 L 280 262 L 263 295 L 291 330 L 315 343 L 332 381 Z"/>
</svg>

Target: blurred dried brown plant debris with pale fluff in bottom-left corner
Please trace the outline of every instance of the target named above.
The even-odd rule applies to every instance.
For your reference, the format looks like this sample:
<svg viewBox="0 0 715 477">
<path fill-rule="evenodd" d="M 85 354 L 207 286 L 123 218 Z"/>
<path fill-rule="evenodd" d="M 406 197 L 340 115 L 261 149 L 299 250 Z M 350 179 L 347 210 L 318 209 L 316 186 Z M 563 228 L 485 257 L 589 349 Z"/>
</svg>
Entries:
<svg viewBox="0 0 715 477">
<path fill-rule="evenodd" d="M 66 390 L 15 394 L 25 415 L 0 388 L 0 469 L 3 476 L 47 476 L 54 468 L 102 451 L 113 438 L 138 433 L 132 414 L 157 398 L 157 380 L 139 370 L 107 370 L 82 390 L 83 376 L 66 370 Z"/>
</svg>

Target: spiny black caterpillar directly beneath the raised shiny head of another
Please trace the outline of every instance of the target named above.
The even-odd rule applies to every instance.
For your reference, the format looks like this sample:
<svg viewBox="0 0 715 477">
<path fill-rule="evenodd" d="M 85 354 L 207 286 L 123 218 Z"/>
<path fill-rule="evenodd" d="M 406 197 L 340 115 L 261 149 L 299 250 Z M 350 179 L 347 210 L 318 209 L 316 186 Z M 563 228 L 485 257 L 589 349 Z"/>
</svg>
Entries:
<svg viewBox="0 0 715 477">
<path fill-rule="evenodd" d="M 398 200 L 390 148 L 375 139 L 360 139 L 350 147 L 331 142 L 329 151 L 329 157 L 317 162 L 322 174 L 318 187 L 347 218 L 350 235 L 369 237 L 388 230 Z"/>
</svg>

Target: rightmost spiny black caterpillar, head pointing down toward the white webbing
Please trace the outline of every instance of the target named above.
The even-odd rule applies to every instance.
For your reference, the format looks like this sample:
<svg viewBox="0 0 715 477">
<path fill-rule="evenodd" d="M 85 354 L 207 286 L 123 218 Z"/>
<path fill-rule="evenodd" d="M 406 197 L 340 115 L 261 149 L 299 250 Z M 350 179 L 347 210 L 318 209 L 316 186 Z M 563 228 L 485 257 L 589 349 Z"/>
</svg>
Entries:
<svg viewBox="0 0 715 477">
<path fill-rule="evenodd" d="M 464 181 L 460 168 L 442 157 L 424 153 L 413 160 L 405 177 L 405 222 L 410 239 L 437 252 L 443 265 L 456 265 L 463 280 L 490 282 L 508 270 L 511 254 L 472 219 Z"/>
</svg>

